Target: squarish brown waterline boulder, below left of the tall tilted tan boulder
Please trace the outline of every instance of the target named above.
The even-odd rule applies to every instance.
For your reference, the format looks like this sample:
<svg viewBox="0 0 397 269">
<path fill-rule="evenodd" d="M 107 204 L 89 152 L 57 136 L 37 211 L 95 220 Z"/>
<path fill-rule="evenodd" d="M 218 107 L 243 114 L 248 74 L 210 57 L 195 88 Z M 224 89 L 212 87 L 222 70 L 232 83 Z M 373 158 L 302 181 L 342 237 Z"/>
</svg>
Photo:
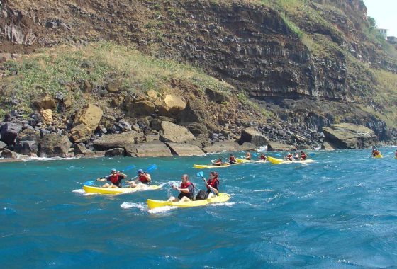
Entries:
<svg viewBox="0 0 397 269">
<path fill-rule="evenodd" d="M 67 156 L 71 145 L 72 143 L 66 135 L 58 136 L 55 133 L 44 135 L 40 142 L 40 156 Z"/>
</svg>

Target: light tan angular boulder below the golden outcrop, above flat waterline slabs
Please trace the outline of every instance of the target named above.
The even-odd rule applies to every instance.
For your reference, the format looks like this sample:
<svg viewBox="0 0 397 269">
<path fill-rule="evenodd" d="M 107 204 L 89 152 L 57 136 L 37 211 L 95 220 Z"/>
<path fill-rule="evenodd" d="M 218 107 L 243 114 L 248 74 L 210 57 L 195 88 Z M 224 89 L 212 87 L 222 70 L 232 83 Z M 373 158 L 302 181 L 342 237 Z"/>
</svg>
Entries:
<svg viewBox="0 0 397 269">
<path fill-rule="evenodd" d="M 194 135 L 186 127 L 172 122 L 161 122 L 160 139 L 164 142 L 183 143 L 194 140 Z"/>
</svg>

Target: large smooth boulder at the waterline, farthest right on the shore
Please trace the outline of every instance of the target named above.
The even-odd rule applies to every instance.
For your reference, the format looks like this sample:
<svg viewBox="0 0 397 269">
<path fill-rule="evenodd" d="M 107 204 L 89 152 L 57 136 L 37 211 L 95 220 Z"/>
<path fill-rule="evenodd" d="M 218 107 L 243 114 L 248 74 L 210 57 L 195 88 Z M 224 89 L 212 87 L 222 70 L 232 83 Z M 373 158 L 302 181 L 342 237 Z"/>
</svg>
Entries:
<svg viewBox="0 0 397 269">
<path fill-rule="evenodd" d="M 340 123 L 323 127 L 325 141 L 336 149 L 362 149 L 377 141 L 373 130 L 351 123 Z"/>
</svg>

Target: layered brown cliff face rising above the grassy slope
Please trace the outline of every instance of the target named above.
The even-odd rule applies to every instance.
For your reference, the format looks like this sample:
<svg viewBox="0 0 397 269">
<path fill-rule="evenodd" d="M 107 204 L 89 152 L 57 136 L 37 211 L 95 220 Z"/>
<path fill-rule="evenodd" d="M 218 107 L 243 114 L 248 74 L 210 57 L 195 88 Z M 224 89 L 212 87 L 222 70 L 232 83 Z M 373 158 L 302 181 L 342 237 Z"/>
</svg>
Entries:
<svg viewBox="0 0 397 269">
<path fill-rule="evenodd" d="M 397 53 L 371 37 L 363 2 L 263 2 L 6 1 L 0 50 L 135 44 L 149 55 L 201 67 L 287 122 L 316 130 L 337 121 L 363 123 L 391 139 L 374 115 L 386 104 L 374 101 L 379 78 L 372 70 L 395 76 Z"/>
</svg>

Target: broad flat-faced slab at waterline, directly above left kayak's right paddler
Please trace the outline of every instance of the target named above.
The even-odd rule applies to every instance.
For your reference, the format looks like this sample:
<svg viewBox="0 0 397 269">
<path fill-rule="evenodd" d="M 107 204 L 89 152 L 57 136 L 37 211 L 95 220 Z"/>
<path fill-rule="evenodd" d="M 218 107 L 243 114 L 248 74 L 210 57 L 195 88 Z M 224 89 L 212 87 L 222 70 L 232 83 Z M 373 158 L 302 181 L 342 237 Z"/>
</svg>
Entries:
<svg viewBox="0 0 397 269">
<path fill-rule="evenodd" d="M 127 156 L 134 157 L 166 157 L 172 156 L 166 144 L 160 141 L 152 141 L 140 144 L 132 144 L 125 148 Z"/>
</svg>

